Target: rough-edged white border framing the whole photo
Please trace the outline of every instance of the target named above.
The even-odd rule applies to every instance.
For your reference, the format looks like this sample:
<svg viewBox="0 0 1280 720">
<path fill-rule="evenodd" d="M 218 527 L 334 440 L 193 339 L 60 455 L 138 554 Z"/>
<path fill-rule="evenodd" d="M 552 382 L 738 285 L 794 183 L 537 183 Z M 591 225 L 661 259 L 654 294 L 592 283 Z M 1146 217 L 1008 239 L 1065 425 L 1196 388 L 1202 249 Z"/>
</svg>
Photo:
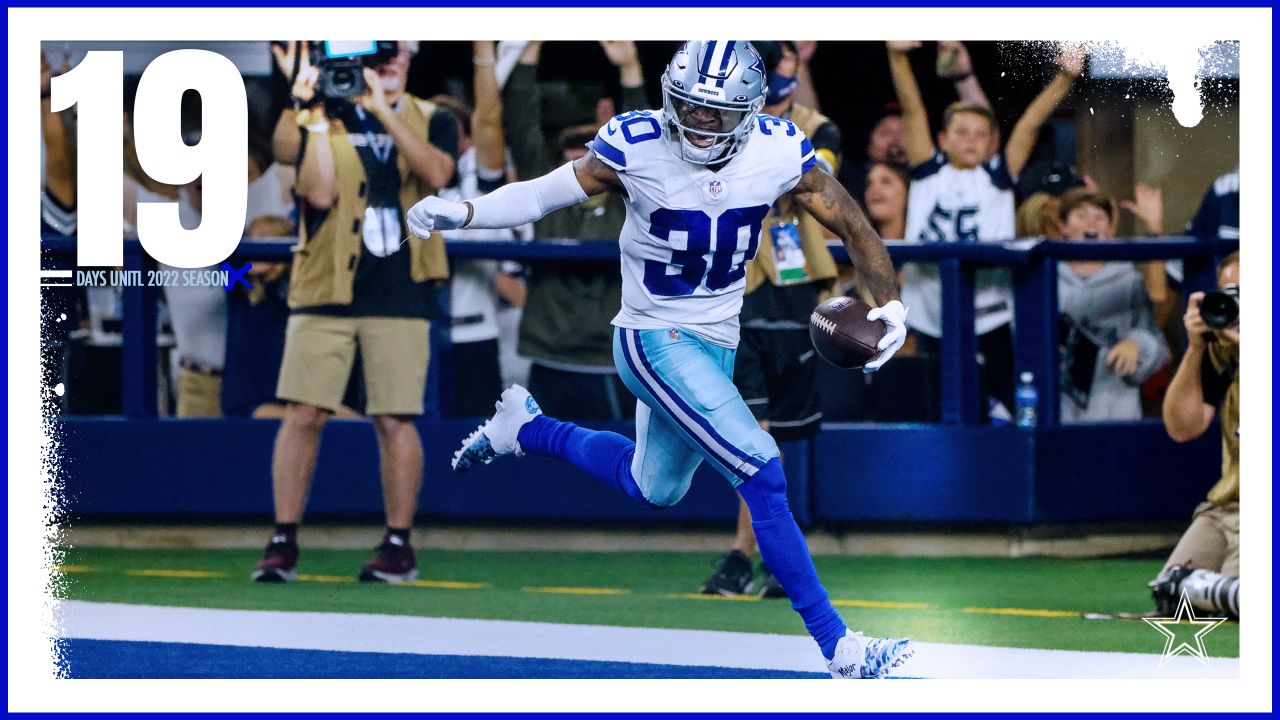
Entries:
<svg viewBox="0 0 1280 720">
<path fill-rule="evenodd" d="M 931 680 L 758 683 L 650 680 L 389 682 L 58 682 L 41 641 L 37 588 L 41 468 L 37 448 L 38 329 L 36 50 L 41 40 L 270 40 L 374 37 L 387 27 L 422 38 L 598 38 L 607 29 L 636 40 L 714 28 L 721 36 L 883 40 L 905 35 L 968 40 L 1125 36 L 1240 40 L 1242 227 L 1251 275 L 1242 364 L 1248 395 L 1242 427 L 1247 502 L 1242 509 L 1251 610 L 1240 633 L 1239 680 Z M 9 10 L 9 710 L 255 711 L 870 711 L 870 710 L 1270 710 L 1271 702 L 1271 10 L 1270 9 L 10 9 Z M 856 92 L 858 68 L 850 68 Z"/>
</svg>

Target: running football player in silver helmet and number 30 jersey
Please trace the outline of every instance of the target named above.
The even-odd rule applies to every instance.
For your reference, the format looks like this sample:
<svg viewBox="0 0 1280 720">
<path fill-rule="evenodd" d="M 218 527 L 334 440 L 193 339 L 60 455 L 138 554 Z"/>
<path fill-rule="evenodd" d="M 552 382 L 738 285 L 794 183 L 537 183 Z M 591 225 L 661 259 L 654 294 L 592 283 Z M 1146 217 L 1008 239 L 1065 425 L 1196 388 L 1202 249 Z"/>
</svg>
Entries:
<svg viewBox="0 0 1280 720">
<path fill-rule="evenodd" d="M 818 168 L 792 122 L 759 114 L 765 68 L 746 41 L 690 41 L 662 76 L 662 110 L 609 120 L 585 158 L 540 178 L 466 202 L 428 197 L 410 229 L 507 228 L 602 192 L 625 195 L 622 310 L 613 355 L 640 400 L 636 441 L 541 414 L 525 388 L 502 393 L 497 413 L 453 457 L 456 470 L 535 452 L 572 462 L 652 507 L 667 507 L 709 462 L 737 488 L 760 555 L 804 619 L 836 678 L 879 678 L 911 652 L 909 641 L 850 632 L 818 580 L 787 505 L 778 447 L 733 386 L 745 265 L 760 224 L 782 195 L 840 236 L 881 304 L 869 319 L 887 332 L 868 372 L 906 334 L 893 265 L 858 204 Z"/>
</svg>

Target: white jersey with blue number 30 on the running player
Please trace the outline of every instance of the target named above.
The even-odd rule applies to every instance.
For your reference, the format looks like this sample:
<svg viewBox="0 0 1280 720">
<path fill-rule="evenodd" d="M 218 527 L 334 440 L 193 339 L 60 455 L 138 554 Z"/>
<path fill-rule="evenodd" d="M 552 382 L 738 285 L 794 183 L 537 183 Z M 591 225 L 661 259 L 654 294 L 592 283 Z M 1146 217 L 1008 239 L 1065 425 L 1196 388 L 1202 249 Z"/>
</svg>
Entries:
<svg viewBox="0 0 1280 720">
<path fill-rule="evenodd" d="M 608 122 L 591 152 L 626 188 L 622 310 L 613 324 L 685 328 L 737 347 L 746 263 L 773 202 L 817 164 L 790 120 L 758 115 L 746 147 L 719 172 L 676 158 L 662 137 L 663 113 L 636 110 Z"/>
</svg>

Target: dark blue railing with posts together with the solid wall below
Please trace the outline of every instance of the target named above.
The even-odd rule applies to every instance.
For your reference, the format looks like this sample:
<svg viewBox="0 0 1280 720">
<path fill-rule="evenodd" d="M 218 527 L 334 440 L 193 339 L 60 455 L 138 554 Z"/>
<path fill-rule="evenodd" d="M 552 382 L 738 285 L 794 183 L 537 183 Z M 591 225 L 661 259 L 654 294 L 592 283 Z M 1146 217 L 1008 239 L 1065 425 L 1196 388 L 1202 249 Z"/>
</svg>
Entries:
<svg viewBox="0 0 1280 720">
<path fill-rule="evenodd" d="M 285 260 L 292 238 L 242 242 L 230 261 Z M 1146 520 L 1180 518 L 1210 484 L 1219 462 L 1219 441 L 1206 437 L 1172 443 L 1158 420 L 1057 427 L 1059 313 L 1057 263 L 1073 259 L 1140 261 L 1179 258 L 1184 290 L 1215 283 L 1216 258 L 1233 242 L 1192 237 L 1134 238 L 1117 242 L 1066 243 L 1020 241 L 1009 245 L 908 245 L 890 242 L 895 263 L 937 263 L 943 286 L 942 421 L 933 425 L 832 423 L 813 441 L 790 443 L 785 451 L 788 495 L 797 520 L 1042 523 L 1076 520 Z M 74 268 L 72 238 L 45 238 L 47 265 Z M 535 241 L 451 242 L 454 258 L 513 260 L 616 260 L 611 242 Z M 847 263 L 833 242 L 837 260 Z M 145 270 L 151 260 L 136 240 L 124 245 L 124 265 Z M 974 273 L 1007 266 L 1015 291 L 1015 368 L 1032 370 L 1038 386 L 1039 427 L 991 427 L 980 421 L 982 404 L 973 327 Z M 131 423 L 118 419 L 65 418 L 64 448 L 72 461 L 67 488 L 74 509 L 84 514 L 192 515 L 253 514 L 270 509 L 265 469 L 274 430 L 260 420 L 170 420 L 156 418 L 155 342 L 157 288 L 127 287 L 123 293 L 123 406 Z M 474 420 L 425 418 L 429 460 L 448 457 L 474 428 Z M 627 433 L 626 423 L 609 429 Z M 323 451 L 329 462 L 317 469 L 311 509 L 316 512 L 375 512 L 376 486 L 352 486 L 372 457 L 362 428 L 337 423 L 326 432 Z M 219 438 L 214 441 L 214 438 Z M 257 470 L 244 473 L 191 462 L 193 447 L 239 447 Z M 215 452 L 215 451 L 211 451 Z M 119 457 L 116 457 L 119 456 Z M 145 456 L 145 459 L 143 459 Z M 132 459 L 132 460 L 131 460 Z M 141 461 L 141 462 L 140 462 Z M 676 509 L 653 514 L 626 498 L 603 492 L 588 478 L 573 478 L 561 465 L 526 459 L 520 471 L 538 464 L 543 474 L 561 474 L 573 492 L 549 496 L 512 483 L 507 492 L 484 489 L 489 483 L 426 483 L 424 507 L 447 518 L 536 520 L 730 521 L 736 502 L 726 483 L 695 482 Z M 106 471 L 95 468 L 105 466 Z M 429 461 L 428 474 L 447 471 Z M 484 469 L 493 482 L 516 465 Z M 145 468 L 143 468 L 145 466 Z M 79 471 L 82 470 L 92 471 Z M 174 477 L 182 482 L 174 484 Z M 328 478 L 328 475 L 333 475 Z M 522 475 L 527 477 L 527 475 Z M 122 482 L 129 492 L 120 492 Z"/>
</svg>

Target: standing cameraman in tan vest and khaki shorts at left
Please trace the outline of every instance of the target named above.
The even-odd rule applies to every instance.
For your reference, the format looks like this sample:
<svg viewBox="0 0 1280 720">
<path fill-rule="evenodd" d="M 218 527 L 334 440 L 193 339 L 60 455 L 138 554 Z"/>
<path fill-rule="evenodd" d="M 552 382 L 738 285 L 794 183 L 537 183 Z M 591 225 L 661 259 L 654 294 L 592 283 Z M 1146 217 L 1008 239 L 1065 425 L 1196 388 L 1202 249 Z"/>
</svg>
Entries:
<svg viewBox="0 0 1280 720">
<path fill-rule="evenodd" d="M 294 46 L 294 102 L 302 145 L 284 360 L 276 396 L 288 402 L 271 462 L 275 534 L 252 578 L 297 578 L 297 525 L 311 487 L 320 434 L 340 406 L 360 348 L 381 459 L 387 534 L 361 580 L 417 577 L 410 528 L 422 480 L 422 414 L 431 281 L 448 266 L 439 234 L 408 237 L 404 209 L 453 176 L 452 115 L 404 92 L 412 50 L 378 42 L 372 54 L 326 58 Z M 291 47 L 292 50 L 292 47 Z M 280 58 L 280 51 L 276 51 Z M 406 240 L 408 237 L 408 240 Z"/>
</svg>

